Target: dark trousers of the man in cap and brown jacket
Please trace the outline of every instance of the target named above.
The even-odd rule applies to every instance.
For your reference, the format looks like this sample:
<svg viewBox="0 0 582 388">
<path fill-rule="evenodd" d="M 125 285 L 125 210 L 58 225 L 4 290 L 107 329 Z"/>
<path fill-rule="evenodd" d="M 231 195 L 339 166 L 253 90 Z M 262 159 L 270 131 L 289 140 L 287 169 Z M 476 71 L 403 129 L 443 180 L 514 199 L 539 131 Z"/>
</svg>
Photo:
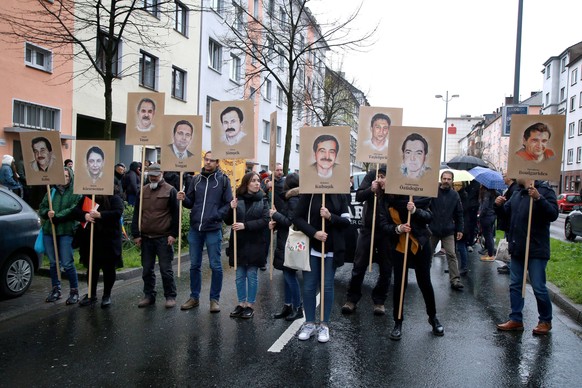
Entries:
<svg viewBox="0 0 582 388">
<path fill-rule="evenodd" d="M 174 271 L 172 260 L 174 259 L 174 248 L 168 245 L 167 237 L 141 239 L 141 265 L 143 267 L 143 293 L 151 298 L 156 298 L 156 256 L 160 264 L 160 274 L 164 285 L 164 296 L 166 298 L 176 297 L 176 282 L 174 281 Z"/>
</svg>

